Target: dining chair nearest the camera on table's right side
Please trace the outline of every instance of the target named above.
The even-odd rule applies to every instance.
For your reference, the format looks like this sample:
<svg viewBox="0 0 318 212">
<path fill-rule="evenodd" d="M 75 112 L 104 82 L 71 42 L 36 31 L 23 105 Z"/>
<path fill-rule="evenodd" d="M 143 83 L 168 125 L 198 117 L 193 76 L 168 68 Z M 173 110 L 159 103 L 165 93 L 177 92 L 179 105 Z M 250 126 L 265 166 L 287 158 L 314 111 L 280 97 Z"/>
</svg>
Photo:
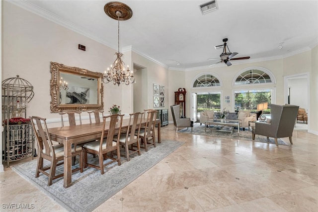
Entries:
<svg viewBox="0 0 318 212">
<path fill-rule="evenodd" d="M 120 150 L 119 150 L 119 143 L 115 142 L 114 139 L 119 139 L 120 132 L 121 132 L 121 125 L 123 122 L 123 116 L 119 114 L 112 114 L 108 116 L 103 116 L 103 128 L 100 139 L 89 142 L 84 144 L 84 168 L 87 166 L 93 167 L 95 169 L 100 170 L 100 174 L 104 174 L 104 167 L 118 162 L 118 166 L 121 165 L 120 161 Z M 117 120 L 118 118 L 118 120 Z M 108 129 L 107 135 L 105 135 L 105 130 Z M 117 137 L 117 138 L 116 138 Z M 117 158 L 113 157 L 112 154 L 110 156 L 107 153 L 111 153 L 116 151 Z M 88 163 L 87 154 L 95 154 L 98 156 L 99 159 L 99 166 L 94 165 L 92 163 Z M 104 164 L 104 159 L 111 159 L 111 161 Z"/>
</svg>

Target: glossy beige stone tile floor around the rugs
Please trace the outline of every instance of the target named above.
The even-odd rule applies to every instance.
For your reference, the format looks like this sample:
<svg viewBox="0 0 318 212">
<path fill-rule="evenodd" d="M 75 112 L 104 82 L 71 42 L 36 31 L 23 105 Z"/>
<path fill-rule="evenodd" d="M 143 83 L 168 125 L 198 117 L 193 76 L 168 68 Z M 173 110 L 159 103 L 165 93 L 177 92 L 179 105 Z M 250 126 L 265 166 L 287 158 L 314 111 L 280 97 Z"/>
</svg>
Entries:
<svg viewBox="0 0 318 212">
<path fill-rule="evenodd" d="M 318 136 L 299 128 L 294 145 L 276 147 L 175 133 L 169 124 L 161 138 L 186 143 L 94 211 L 317 212 Z M 6 203 L 65 211 L 10 168 L 0 179 L 1 211 Z"/>
</svg>

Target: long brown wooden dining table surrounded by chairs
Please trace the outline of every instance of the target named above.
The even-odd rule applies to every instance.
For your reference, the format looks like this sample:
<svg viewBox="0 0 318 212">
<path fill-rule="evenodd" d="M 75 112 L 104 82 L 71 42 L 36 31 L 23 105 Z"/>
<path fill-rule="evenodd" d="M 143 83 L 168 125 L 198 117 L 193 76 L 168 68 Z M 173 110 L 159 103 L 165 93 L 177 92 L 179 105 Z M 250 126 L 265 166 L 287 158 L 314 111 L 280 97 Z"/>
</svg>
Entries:
<svg viewBox="0 0 318 212">
<path fill-rule="evenodd" d="M 146 122 L 147 118 L 143 118 L 141 124 L 145 125 Z M 129 118 L 123 119 L 121 133 L 127 131 L 128 124 Z M 160 143 L 160 119 L 156 119 L 156 125 L 158 143 Z M 64 145 L 64 188 L 68 188 L 72 185 L 72 144 L 81 144 L 87 141 L 100 139 L 102 127 L 103 122 L 74 126 L 53 127 L 48 129 L 51 139 L 53 141 L 63 143 Z M 109 124 L 107 125 L 106 122 L 105 134 L 108 132 L 108 128 Z M 119 129 L 119 124 L 116 129 Z"/>
</svg>

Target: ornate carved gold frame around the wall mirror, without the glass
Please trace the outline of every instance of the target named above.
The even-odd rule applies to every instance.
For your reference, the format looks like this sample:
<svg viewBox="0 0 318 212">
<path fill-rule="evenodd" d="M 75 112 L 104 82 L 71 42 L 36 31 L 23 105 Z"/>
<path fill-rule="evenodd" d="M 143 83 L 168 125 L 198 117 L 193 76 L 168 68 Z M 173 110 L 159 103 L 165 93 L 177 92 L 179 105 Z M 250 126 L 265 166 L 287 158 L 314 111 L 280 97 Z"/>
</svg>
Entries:
<svg viewBox="0 0 318 212">
<path fill-rule="evenodd" d="M 60 103 L 60 75 L 62 73 L 82 76 L 84 78 L 90 78 L 97 81 L 97 104 L 61 104 Z M 77 67 L 65 66 L 63 64 L 51 62 L 50 66 L 51 73 L 51 112 L 61 112 L 65 110 L 78 110 L 78 111 L 87 111 L 90 109 L 102 110 L 104 108 L 103 102 L 103 84 L 102 78 L 103 74 L 98 72 L 91 72 L 86 69 L 81 69 Z"/>
</svg>

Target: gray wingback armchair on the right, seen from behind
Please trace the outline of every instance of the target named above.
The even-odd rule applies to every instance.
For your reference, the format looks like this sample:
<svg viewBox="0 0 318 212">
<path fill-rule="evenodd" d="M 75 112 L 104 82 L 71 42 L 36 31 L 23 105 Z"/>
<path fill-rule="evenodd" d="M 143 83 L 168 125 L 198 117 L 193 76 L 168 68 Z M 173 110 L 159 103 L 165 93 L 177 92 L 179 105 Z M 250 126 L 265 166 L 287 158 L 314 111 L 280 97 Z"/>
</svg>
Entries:
<svg viewBox="0 0 318 212">
<path fill-rule="evenodd" d="M 277 138 L 289 137 L 289 141 L 293 144 L 292 136 L 295 121 L 297 118 L 299 106 L 293 105 L 273 105 L 270 106 L 271 121 L 256 122 L 255 127 L 252 129 L 252 139 L 255 139 L 255 134 L 273 137 L 277 144 Z"/>
</svg>

